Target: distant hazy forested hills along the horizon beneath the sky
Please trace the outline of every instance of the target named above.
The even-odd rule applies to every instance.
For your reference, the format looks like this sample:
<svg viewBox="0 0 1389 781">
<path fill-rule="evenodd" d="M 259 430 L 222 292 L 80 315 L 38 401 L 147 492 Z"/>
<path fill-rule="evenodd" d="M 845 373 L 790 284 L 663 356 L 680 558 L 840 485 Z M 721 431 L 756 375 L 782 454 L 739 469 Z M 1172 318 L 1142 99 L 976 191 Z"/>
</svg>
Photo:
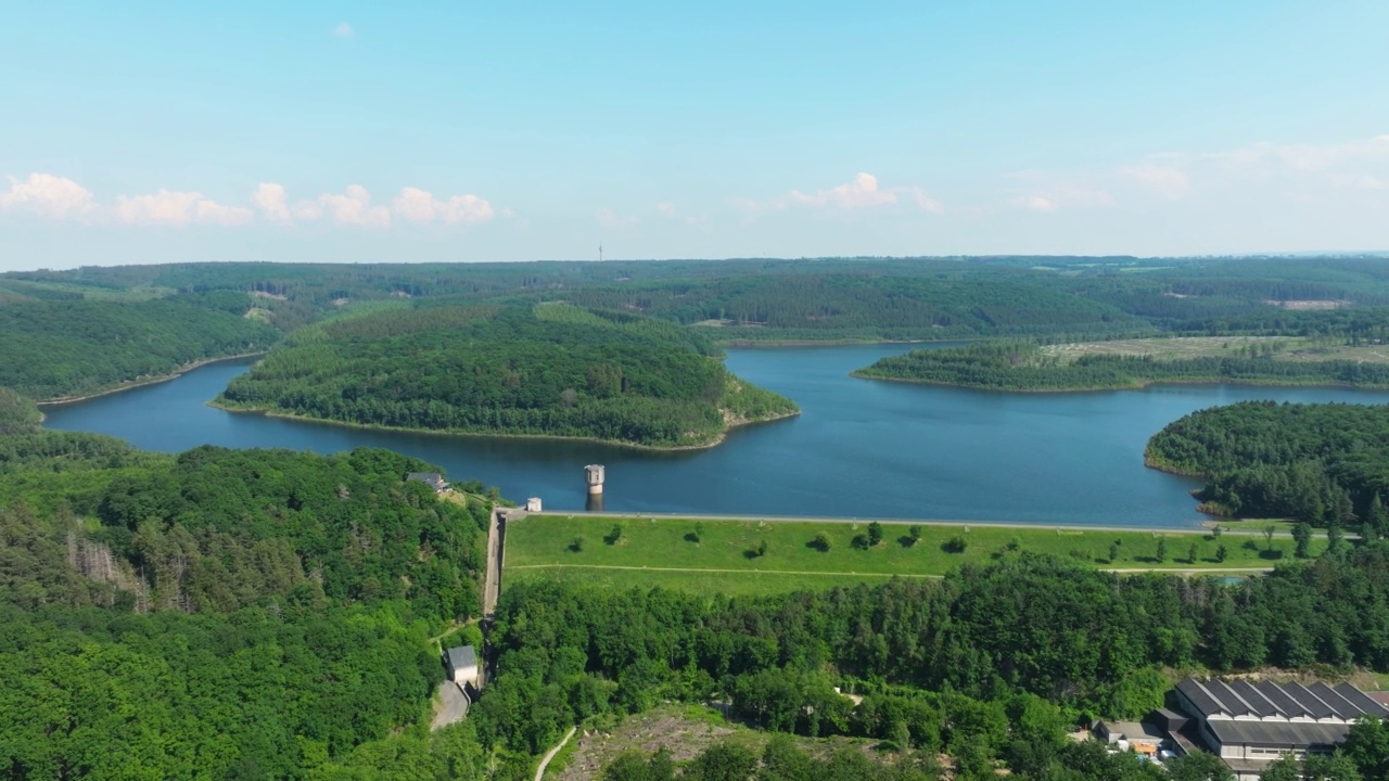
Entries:
<svg viewBox="0 0 1389 781">
<path fill-rule="evenodd" d="M 3 274 L 0 306 L 238 292 L 288 331 L 367 302 L 461 296 L 718 322 L 710 335 L 722 342 L 1347 331 L 1385 338 L 1383 265 L 1368 257 L 1013 256 L 174 264 Z M 1297 309 L 1308 304 L 1332 309 Z"/>
</svg>

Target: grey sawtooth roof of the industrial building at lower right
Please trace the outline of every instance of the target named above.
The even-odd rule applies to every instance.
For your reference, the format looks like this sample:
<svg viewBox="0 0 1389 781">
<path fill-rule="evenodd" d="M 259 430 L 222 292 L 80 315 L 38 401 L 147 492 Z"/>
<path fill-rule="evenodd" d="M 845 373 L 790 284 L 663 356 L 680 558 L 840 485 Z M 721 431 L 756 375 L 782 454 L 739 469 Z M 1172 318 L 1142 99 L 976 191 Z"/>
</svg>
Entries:
<svg viewBox="0 0 1389 781">
<path fill-rule="evenodd" d="M 1314 682 L 1275 684 L 1274 681 L 1197 681 L 1188 678 L 1176 684 L 1201 716 L 1258 716 L 1260 718 L 1345 718 L 1361 716 L 1389 716 L 1389 707 L 1365 696 L 1350 684 L 1329 687 Z"/>
</svg>

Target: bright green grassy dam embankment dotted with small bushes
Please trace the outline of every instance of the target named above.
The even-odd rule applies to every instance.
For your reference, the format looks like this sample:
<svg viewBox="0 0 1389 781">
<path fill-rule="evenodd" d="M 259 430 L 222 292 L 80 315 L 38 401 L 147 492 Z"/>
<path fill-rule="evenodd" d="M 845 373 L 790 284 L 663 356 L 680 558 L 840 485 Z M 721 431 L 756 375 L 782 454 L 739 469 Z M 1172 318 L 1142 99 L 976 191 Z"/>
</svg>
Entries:
<svg viewBox="0 0 1389 781">
<path fill-rule="evenodd" d="M 614 536 L 614 527 L 621 535 Z M 1239 571 L 1292 559 L 1293 541 L 1201 531 L 1076 531 L 883 524 L 882 541 L 865 548 L 868 524 L 796 521 L 693 521 L 532 516 L 507 525 L 506 582 L 551 577 L 614 586 L 697 592 L 767 593 L 881 582 L 892 575 L 939 577 L 967 561 L 986 563 L 1013 550 L 1071 557 L 1115 570 Z M 829 542 L 821 549 L 817 535 Z M 575 545 L 582 538 L 582 545 Z M 765 553 L 758 550 L 765 541 Z M 963 549 L 960 549 L 963 542 Z M 1158 543 L 1165 548 L 1157 559 Z M 1192 546 L 1196 559 L 1189 560 Z M 1225 546 L 1224 561 L 1215 550 Z M 1111 546 L 1114 559 L 1110 559 Z M 1313 541 L 1311 553 L 1325 548 Z"/>
</svg>

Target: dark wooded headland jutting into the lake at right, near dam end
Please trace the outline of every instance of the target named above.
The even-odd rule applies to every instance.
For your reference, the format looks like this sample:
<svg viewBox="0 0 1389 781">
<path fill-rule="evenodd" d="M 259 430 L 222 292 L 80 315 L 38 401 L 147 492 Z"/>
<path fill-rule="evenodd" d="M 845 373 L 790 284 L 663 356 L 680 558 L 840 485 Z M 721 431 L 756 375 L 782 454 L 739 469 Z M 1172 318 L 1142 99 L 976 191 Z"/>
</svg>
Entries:
<svg viewBox="0 0 1389 781">
<path fill-rule="evenodd" d="M 1207 509 L 1389 535 L 1389 407 L 1240 402 L 1153 435 L 1149 466 L 1206 479 Z"/>
</svg>

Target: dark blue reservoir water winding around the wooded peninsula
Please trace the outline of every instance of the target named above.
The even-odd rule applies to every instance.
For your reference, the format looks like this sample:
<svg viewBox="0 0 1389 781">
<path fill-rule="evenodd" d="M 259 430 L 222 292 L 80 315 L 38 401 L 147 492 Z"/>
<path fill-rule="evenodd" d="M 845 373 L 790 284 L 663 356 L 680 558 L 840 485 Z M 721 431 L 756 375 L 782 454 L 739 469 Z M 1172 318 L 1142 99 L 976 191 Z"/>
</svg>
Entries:
<svg viewBox="0 0 1389 781">
<path fill-rule="evenodd" d="M 793 399 L 801 416 L 735 429 L 675 453 L 551 439 L 369 431 L 206 406 L 250 361 L 46 407 L 46 425 L 147 450 L 389 447 L 547 510 L 582 510 L 585 464 L 604 464 L 604 507 L 633 513 L 938 518 L 1195 527 L 1196 481 L 1143 467 L 1147 438 L 1199 409 L 1247 399 L 1389 403 L 1340 388 L 1165 385 L 1146 390 L 1000 393 L 856 379 L 910 345 L 728 350 L 739 377 Z"/>
</svg>

